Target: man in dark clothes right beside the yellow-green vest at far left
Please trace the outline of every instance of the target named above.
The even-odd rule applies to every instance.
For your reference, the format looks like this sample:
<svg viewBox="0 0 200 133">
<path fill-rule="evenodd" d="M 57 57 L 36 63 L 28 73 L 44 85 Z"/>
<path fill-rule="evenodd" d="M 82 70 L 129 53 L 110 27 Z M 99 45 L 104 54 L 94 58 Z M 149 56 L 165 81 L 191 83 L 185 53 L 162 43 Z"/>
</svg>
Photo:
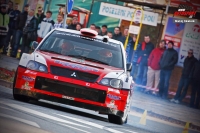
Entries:
<svg viewBox="0 0 200 133">
<path fill-rule="evenodd" d="M 13 45 L 14 45 L 15 33 L 16 33 L 15 23 L 16 23 L 18 15 L 21 13 L 18 10 L 18 6 L 19 5 L 16 4 L 14 10 L 12 10 L 9 13 L 9 17 L 10 17 L 9 24 L 8 24 L 9 30 L 8 30 L 8 34 L 6 36 L 6 43 L 5 43 L 4 49 L 3 49 L 3 53 L 4 54 L 7 54 L 6 50 L 7 50 L 8 46 L 9 46 L 9 43 L 11 43 L 11 47 L 12 48 L 13 48 Z M 11 36 L 12 36 L 12 41 L 10 41 Z"/>
</svg>

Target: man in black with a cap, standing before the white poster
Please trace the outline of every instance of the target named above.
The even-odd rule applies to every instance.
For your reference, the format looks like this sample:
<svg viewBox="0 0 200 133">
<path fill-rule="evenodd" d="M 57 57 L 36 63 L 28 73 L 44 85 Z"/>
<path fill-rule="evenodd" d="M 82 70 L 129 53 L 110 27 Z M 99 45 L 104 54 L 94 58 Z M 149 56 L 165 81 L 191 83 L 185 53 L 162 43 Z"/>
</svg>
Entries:
<svg viewBox="0 0 200 133">
<path fill-rule="evenodd" d="M 181 79 L 179 81 L 178 89 L 176 91 L 176 95 L 173 99 L 171 99 L 171 102 L 180 103 L 183 98 L 185 98 L 187 94 L 188 87 L 190 85 L 190 78 L 189 75 L 191 73 L 192 68 L 194 67 L 194 64 L 198 60 L 193 55 L 193 50 L 190 49 L 188 51 L 188 56 L 185 58 L 183 63 L 183 71 L 181 75 Z"/>
</svg>

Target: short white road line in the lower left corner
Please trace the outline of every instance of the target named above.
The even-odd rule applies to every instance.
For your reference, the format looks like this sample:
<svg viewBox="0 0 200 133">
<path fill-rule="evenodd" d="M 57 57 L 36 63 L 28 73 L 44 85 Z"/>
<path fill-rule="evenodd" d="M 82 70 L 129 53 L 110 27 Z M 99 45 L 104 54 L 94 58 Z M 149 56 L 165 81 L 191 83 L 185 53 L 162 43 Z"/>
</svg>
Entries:
<svg viewBox="0 0 200 133">
<path fill-rule="evenodd" d="M 10 116 L 10 115 L 6 115 L 6 114 L 2 114 L 2 113 L 0 113 L 0 116 L 5 117 L 5 118 L 14 119 L 14 120 L 17 120 L 17 121 L 20 121 L 20 122 L 26 123 L 26 124 L 28 124 L 28 125 L 31 125 L 31 126 L 34 126 L 34 127 L 40 128 L 40 126 L 39 126 L 37 123 L 32 122 L 32 121 L 24 120 L 24 119 L 21 119 L 21 118 L 18 118 L 18 117 L 14 117 L 14 116 Z"/>
</svg>

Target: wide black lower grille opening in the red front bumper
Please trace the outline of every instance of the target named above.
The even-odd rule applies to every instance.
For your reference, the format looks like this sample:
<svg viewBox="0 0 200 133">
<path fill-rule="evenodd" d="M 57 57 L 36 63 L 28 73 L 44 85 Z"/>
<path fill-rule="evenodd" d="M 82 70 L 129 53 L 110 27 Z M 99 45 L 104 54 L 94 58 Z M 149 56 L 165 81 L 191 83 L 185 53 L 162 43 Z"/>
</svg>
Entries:
<svg viewBox="0 0 200 133">
<path fill-rule="evenodd" d="M 85 100 L 91 100 L 100 103 L 104 103 L 106 99 L 106 91 L 87 88 L 43 77 L 36 78 L 34 87 L 39 90 L 45 90 L 48 92 L 81 98 Z"/>
</svg>

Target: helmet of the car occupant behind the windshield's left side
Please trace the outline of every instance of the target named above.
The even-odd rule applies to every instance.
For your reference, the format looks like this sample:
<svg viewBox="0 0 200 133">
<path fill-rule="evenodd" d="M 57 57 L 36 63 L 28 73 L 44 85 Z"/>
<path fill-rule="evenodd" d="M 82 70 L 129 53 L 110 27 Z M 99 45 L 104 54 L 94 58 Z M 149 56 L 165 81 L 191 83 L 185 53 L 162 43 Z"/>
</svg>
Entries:
<svg viewBox="0 0 200 133">
<path fill-rule="evenodd" d="M 67 55 L 74 50 L 74 45 L 66 40 L 61 45 L 61 54 Z"/>
</svg>

